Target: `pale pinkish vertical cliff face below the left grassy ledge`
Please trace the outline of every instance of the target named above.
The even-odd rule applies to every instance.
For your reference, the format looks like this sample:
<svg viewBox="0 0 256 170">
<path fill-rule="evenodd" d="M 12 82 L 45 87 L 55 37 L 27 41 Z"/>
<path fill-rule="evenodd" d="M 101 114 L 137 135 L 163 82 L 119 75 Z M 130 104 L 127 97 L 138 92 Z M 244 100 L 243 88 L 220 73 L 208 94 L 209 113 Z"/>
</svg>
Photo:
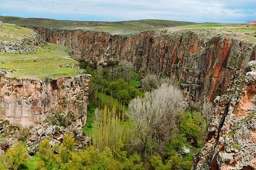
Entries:
<svg viewBox="0 0 256 170">
<path fill-rule="evenodd" d="M 0 119 L 35 127 L 58 112 L 75 115 L 74 125 L 86 121 L 90 75 L 30 80 L 0 77 Z"/>
</svg>

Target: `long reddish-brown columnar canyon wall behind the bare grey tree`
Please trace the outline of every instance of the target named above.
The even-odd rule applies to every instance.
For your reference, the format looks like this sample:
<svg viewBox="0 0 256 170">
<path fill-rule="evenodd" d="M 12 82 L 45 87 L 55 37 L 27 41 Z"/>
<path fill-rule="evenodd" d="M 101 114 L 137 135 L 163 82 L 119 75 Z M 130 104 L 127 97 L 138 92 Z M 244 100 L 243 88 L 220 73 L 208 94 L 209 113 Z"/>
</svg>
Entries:
<svg viewBox="0 0 256 170">
<path fill-rule="evenodd" d="M 201 101 L 212 102 L 215 96 L 225 94 L 234 79 L 234 71 L 245 69 L 256 53 L 253 43 L 210 31 L 148 31 L 122 36 L 83 30 L 36 29 L 44 40 L 71 47 L 77 60 L 97 64 L 127 60 L 139 72 L 169 75 L 181 83 L 185 100 L 196 105 Z"/>
</svg>

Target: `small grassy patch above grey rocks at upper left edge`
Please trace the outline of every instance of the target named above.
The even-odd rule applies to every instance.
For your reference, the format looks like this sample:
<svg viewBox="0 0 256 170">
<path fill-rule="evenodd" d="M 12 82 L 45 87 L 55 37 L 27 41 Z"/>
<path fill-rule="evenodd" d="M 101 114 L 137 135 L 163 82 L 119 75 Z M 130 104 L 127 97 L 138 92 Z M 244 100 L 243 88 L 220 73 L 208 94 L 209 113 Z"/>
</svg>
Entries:
<svg viewBox="0 0 256 170">
<path fill-rule="evenodd" d="M 15 42 L 33 35 L 33 30 L 20 26 L 5 24 L 0 27 L 0 40 Z"/>
</svg>

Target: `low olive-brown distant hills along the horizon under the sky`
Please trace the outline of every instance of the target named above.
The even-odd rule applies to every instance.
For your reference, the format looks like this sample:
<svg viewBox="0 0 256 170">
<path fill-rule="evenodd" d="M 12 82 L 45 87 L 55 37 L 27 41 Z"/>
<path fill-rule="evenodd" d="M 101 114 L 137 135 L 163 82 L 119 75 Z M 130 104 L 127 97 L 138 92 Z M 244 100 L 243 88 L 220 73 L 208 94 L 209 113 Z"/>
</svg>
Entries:
<svg viewBox="0 0 256 170">
<path fill-rule="evenodd" d="M 15 23 L 18 26 L 41 26 L 46 28 L 78 28 L 86 27 L 95 30 L 148 30 L 152 28 L 164 28 L 173 26 L 186 26 L 194 24 L 183 21 L 166 20 L 138 20 L 119 22 L 97 22 L 97 21 L 66 21 L 46 18 L 20 18 L 12 16 L 0 16 L 4 23 Z"/>
</svg>

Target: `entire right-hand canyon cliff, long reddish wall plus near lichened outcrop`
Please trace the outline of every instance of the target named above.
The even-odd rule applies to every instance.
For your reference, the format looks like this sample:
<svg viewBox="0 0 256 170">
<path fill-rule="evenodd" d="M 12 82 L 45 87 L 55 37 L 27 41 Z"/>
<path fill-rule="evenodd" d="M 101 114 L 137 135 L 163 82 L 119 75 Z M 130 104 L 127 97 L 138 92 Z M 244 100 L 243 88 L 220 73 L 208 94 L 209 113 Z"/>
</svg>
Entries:
<svg viewBox="0 0 256 170">
<path fill-rule="evenodd" d="M 255 81 L 249 80 L 255 74 L 245 73 L 247 62 L 256 60 L 255 42 L 213 30 L 122 36 L 36 29 L 46 41 L 71 47 L 78 60 L 128 60 L 139 72 L 168 75 L 179 81 L 191 107 L 214 103 L 206 145 L 194 169 L 255 169 Z"/>
</svg>

